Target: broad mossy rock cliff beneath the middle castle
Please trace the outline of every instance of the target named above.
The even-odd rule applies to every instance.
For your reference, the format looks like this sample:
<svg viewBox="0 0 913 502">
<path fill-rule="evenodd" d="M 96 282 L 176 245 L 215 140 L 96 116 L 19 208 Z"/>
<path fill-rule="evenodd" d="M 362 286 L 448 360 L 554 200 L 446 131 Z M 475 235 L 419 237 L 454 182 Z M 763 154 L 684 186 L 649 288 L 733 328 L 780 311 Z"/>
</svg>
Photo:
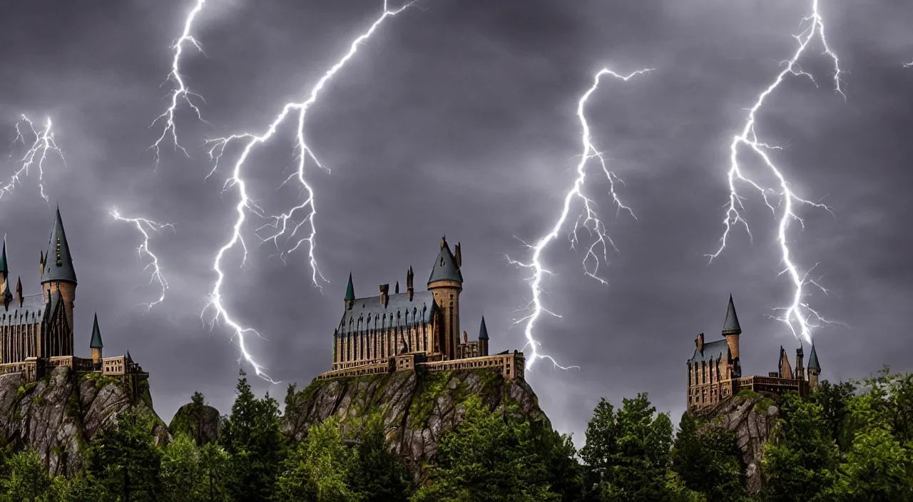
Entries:
<svg viewBox="0 0 913 502">
<path fill-rule="evenodd" d="M 311 425 L 336 416 L 343 434 L 353 436 L 376 413 L 383 419 L 391 450 L 419 474 L 435 455 L 441 434 L 463 420 L 465 403 L 473 395 L 492 410 L 513 402 L 530 417 L 545 416 L 527 382 L 506 382 L 494 371 L 400 371 L 311 382 L 287 405 L 282 430 L 300 440 Z"/>
</svg>

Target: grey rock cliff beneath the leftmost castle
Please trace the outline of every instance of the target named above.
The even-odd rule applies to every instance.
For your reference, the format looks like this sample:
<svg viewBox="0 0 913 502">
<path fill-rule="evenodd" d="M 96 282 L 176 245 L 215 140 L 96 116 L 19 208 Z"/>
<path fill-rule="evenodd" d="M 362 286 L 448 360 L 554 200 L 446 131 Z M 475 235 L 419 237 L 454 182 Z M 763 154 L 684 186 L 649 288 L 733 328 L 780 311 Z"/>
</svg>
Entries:
<svg viewBox="0 0 913 502">
<path fill-rule="evenodd" d="M 121 382 L 100 374 L 78 376 L 69 368 L 55 368 L 38 382 L 0 375 L 0 433 L 16 450 L 37 450 L 51 474 L 72 476 L 82 465 L 83 445 L 131 407 L 152 414 L 160 423 L 158 440 L 169 439 L 152 410 L 148 384 L 137 393 L 134 400 Z"/>
</svg>

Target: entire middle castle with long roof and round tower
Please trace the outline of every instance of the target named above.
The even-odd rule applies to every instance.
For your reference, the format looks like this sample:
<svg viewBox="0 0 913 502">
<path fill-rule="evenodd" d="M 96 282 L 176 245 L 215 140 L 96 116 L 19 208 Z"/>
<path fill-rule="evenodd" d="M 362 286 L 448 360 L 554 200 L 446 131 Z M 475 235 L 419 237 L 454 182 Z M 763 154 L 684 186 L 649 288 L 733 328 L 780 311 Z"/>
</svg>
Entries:
<svg viewBox="0 0 913 502">
<path fill-rule="evenodd" d="M 478 339 L 460 340 L 459 295 L 463 291 L 459 243 L 450 251 L 446 237 L 431 268 L 426 291 L 415 291 L 412 267 L 406 271 L 405 293 L 396 282 L 381 285 L 376 297 L 355 298 L 352 274 L 345 291 L 345 309 L 333 331 L 331 371 L 319 380 L 392 373 L 394 371 L 452 371 L 489 368 L 506 380 L 523 378 L 523 353 L 505 350 L 488 354 L 485 318 Z"/>
</svg>

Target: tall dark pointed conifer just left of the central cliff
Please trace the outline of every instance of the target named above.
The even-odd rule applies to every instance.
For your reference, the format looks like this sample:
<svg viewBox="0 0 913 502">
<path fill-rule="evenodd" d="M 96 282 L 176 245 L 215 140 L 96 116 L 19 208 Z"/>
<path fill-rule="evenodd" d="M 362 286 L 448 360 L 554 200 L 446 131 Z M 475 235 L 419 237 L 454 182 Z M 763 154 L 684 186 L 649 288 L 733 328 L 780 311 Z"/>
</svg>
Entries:
<svg viewBox="0 0 913 502">
<path fill-rule="evenodd" d="M 278 403 L 269 393 L 257 399 L 244 371 L 240 371 L 236 392 L 220 437 L 230 456 L 226 486 L 236 500 L 269 500 L 284 455 Z"/>
</svg>

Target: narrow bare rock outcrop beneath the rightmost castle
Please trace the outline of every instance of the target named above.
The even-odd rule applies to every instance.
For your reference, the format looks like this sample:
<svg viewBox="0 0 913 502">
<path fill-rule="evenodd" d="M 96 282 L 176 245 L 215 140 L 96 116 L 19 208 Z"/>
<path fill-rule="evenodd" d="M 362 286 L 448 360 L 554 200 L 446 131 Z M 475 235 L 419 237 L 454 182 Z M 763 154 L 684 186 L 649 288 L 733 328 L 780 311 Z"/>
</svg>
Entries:
<svg viewBox="0 0 913 502">
<path fill-rule="evenodd" d="M 779 410 L 770 398 L 757 394 L 737 394 L 716 407 L 695 414 L 695 418 L 724 427 L 736 434 L 746 465 L 751 493 L 761 490 L 761 461 L 764 447 L 777 423 Z"/>
</svg>

